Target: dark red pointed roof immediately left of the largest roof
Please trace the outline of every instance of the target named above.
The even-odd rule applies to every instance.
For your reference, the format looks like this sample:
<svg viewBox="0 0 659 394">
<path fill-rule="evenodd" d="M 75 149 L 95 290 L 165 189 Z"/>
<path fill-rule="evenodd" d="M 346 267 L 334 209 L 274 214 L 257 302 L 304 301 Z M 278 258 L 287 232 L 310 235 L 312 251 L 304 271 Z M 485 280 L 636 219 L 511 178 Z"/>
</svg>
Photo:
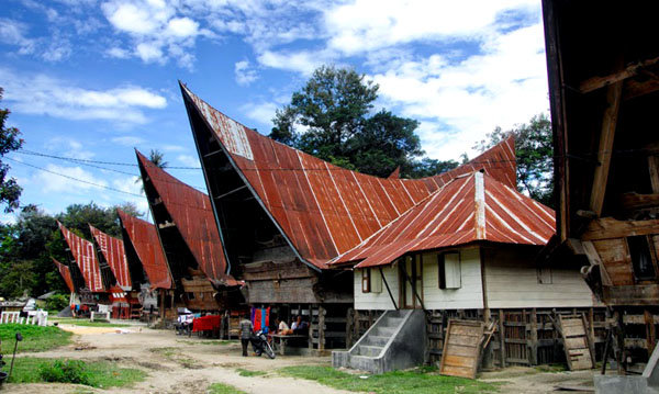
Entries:
<svg viewBox="0 0 659 394">
<path fill-rule="evenodd" d="M 158 168 L 139 151 L 137 158 L 203 273 L 220 285 L 238 284 L 226 274 L 226 258 L 209 196 Z"/>
</svg>

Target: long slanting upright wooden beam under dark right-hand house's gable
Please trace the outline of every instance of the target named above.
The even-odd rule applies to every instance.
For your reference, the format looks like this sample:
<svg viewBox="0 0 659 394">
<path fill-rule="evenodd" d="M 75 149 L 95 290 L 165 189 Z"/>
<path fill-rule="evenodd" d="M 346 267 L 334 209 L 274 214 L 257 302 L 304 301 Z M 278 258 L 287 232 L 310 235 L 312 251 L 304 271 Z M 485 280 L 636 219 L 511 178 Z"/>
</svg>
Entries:
<svg viewBox="0 0 659 394">
<path fill-rule="evenodd" d="M 597 150 L 600 166 L 595 168 L 591 191 L 591 211 L 597 216 L 602 215 L 602 206 L 604 205 L 604 194 L 606 192 L 606 181 L 608 180 L 608 167 L 611 166 L 613 138 L 617 126 L 622 93 L 623 81 L 610 86 L 606 92 L 608 106 L 604 110 L 602 132 L 600 133 L 600 149 Z"/>
</svg>

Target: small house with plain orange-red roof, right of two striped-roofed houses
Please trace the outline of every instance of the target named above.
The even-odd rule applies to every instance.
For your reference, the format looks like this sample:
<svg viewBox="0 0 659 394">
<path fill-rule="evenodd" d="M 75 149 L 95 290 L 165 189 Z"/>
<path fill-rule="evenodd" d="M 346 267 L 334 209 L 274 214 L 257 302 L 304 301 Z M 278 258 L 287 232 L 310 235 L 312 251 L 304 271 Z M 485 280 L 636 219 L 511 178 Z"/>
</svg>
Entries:
<svg viewBox="0 0 659 394">
<path fill-rule="evenodd" d="M 156 227 L 146 221 L 116 210 L 131 281 L 139 284 L 139 301 L 144 312 L 161 311 L 158 293 L 171 290 L 171 275 L 160 247 Z"/>
</svg>

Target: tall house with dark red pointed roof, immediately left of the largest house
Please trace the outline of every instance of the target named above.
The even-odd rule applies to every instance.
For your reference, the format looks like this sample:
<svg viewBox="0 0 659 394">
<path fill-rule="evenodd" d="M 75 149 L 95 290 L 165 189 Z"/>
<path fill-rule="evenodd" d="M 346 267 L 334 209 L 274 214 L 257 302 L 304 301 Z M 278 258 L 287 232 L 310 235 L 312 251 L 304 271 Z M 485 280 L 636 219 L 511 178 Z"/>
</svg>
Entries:
<svg viewBox="0 0 659 394">
<path fill-rule="evenodd" d="M 171 307 L 168 317 L 176 317 L 176 306 L 209 312 L 238 306 L 241 283 L 227 274 L 209 196 L 136 155 L 175 288 L 163 304 Z"/>
</svg>

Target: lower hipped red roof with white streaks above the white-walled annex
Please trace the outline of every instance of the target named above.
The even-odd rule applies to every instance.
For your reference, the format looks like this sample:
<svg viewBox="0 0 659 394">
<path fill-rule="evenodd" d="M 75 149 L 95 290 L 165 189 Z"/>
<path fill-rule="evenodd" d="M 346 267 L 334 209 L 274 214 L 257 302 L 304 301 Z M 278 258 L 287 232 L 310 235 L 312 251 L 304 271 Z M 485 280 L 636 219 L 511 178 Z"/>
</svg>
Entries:
<svg viewBox="0 0 659 394">
<path fill-rule="evenodd" d="M 481 172 L 460 176 L 333 263 L 388 264 L 410 251 L 485 240 L 545 245 L 552 210 Z"/>
</svg>

